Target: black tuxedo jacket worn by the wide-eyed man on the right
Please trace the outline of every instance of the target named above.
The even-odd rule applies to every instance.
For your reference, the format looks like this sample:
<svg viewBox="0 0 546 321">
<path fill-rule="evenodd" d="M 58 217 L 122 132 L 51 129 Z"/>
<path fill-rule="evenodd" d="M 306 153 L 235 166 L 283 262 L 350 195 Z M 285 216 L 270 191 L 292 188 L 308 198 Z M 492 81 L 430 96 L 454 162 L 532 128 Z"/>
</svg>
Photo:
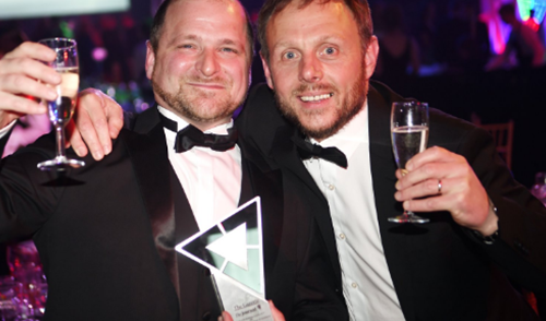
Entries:
<svg viewBox="0 0 546 321">
<path fill-rule="evenodd" d="M 388 222 L 388 217 L 402 213 L 394 200 L 396 164 L 389 124 L 390 106 L 396 100 L 403 98 L 380 83 L 371 83 L 368 104 L 373 194 L 384 254 L 405 319 L 535 320 L 511 283 L 544 296 L 546 211 L 513 180 L 485 131 L 430 109 L 429 146 L 442 146 L 466 157 L 498 207 L 500 239 L 495 245 L 483 243 L 447 212 L 419 213 L 430 218 L 424 225 Z M 313 190 L 314 200 L 310 201 L 323 206 L 314 214 L 333 255 L 335 239 L 327 201 L 290 141 L 297 129 L 280 115 L 265 85 L 251 91 L 238 121 L 239 129 L 271 162 L 287 168 Z"/>
</svg>

